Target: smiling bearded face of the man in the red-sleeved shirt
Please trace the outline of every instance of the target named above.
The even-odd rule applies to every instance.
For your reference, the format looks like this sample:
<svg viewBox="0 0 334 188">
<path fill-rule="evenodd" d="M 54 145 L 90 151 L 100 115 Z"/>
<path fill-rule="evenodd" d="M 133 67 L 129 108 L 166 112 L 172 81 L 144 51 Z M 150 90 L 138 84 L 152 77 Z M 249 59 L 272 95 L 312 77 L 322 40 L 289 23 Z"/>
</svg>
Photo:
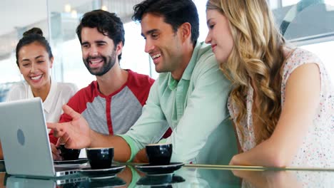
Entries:
<svg viewBox="0 0 334 188">
<path fill-rule="evenodd" d="M 81 50 L 83 63 L 92 75 L 107 73 L 121 53 L 121 43 L 114 47 L 113 40 L 98 32 L 97 28 L 84 27 L 81 30 Z"/>
</svg>

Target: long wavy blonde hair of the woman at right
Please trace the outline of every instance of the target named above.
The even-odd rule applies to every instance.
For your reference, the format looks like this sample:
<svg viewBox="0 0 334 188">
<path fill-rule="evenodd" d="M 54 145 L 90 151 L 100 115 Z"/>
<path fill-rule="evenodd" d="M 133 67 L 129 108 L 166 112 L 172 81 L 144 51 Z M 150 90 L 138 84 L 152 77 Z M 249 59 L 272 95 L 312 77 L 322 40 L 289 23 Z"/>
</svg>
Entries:
<svg viewBox="0 0 334 188">
<path fill-rule="evenodd" d="M 235 45 L 220 68 L 233 83 L 230 96 L 239 110 L 236 126 L 240 130 L 247 113 L 246 95 L 253 84 L 257 103 L 253 125 L 259 144 L 272 135 L 280 116 L 284 38 L 266 0 L 208 0 L 206 9 L 220 11 L 229 21 Z"/>
</svg>

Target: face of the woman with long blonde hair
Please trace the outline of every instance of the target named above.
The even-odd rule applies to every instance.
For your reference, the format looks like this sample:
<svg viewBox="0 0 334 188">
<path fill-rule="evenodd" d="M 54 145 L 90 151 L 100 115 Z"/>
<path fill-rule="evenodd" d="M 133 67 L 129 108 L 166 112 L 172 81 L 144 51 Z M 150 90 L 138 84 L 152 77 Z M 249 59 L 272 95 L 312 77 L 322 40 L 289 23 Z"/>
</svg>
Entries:
<svg viewBox="0 0 334 188">
<path fill-rule="evenodd" d="M 206 43 L 211 43 L 217 61 L 224 63 L 228 60 L 234 45 L 228 19 L 219 11 L 208 9 L 206 23 L 208 24 Z"/>
</svg>

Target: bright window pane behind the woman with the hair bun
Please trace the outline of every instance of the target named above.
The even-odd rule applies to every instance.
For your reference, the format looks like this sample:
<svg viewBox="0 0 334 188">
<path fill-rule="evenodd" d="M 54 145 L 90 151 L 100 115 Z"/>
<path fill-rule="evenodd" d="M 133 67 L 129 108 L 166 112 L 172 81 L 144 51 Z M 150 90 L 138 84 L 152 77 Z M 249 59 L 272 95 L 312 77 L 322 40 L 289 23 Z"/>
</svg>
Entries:
<svg viewBox="0 0 334 188">
<path fill-rule="evenodd" d="M 34 6 L 30 6 L 34 4 Z M 26 7 L 31 7 L 26 9 Z M 0 84 L 24 80 L 16 66 L 15 48 L 22 34 L 37 26 L 49 38 L 46 1 L 0 1 Z M 14 19 L 16 18 L 16 19 Z M 31 24 L 31 23 L 34 23 Z M 0 91 L 1 93 L 1 91 Z"/>
</svg>

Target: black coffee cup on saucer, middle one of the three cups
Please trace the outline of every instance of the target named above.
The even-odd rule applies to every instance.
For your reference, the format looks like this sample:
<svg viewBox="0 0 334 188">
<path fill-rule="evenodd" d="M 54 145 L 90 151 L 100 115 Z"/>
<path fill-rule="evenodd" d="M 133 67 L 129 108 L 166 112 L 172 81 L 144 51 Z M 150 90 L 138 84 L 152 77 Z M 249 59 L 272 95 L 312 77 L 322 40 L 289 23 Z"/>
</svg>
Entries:
<svg viewBox="0 0 334 188">
<path fill-rule="evenodd" d="M 91 169 L 110 168 L 113 162 L 113 147 L 86 148 L 86 154 Z"/>
</svg>

